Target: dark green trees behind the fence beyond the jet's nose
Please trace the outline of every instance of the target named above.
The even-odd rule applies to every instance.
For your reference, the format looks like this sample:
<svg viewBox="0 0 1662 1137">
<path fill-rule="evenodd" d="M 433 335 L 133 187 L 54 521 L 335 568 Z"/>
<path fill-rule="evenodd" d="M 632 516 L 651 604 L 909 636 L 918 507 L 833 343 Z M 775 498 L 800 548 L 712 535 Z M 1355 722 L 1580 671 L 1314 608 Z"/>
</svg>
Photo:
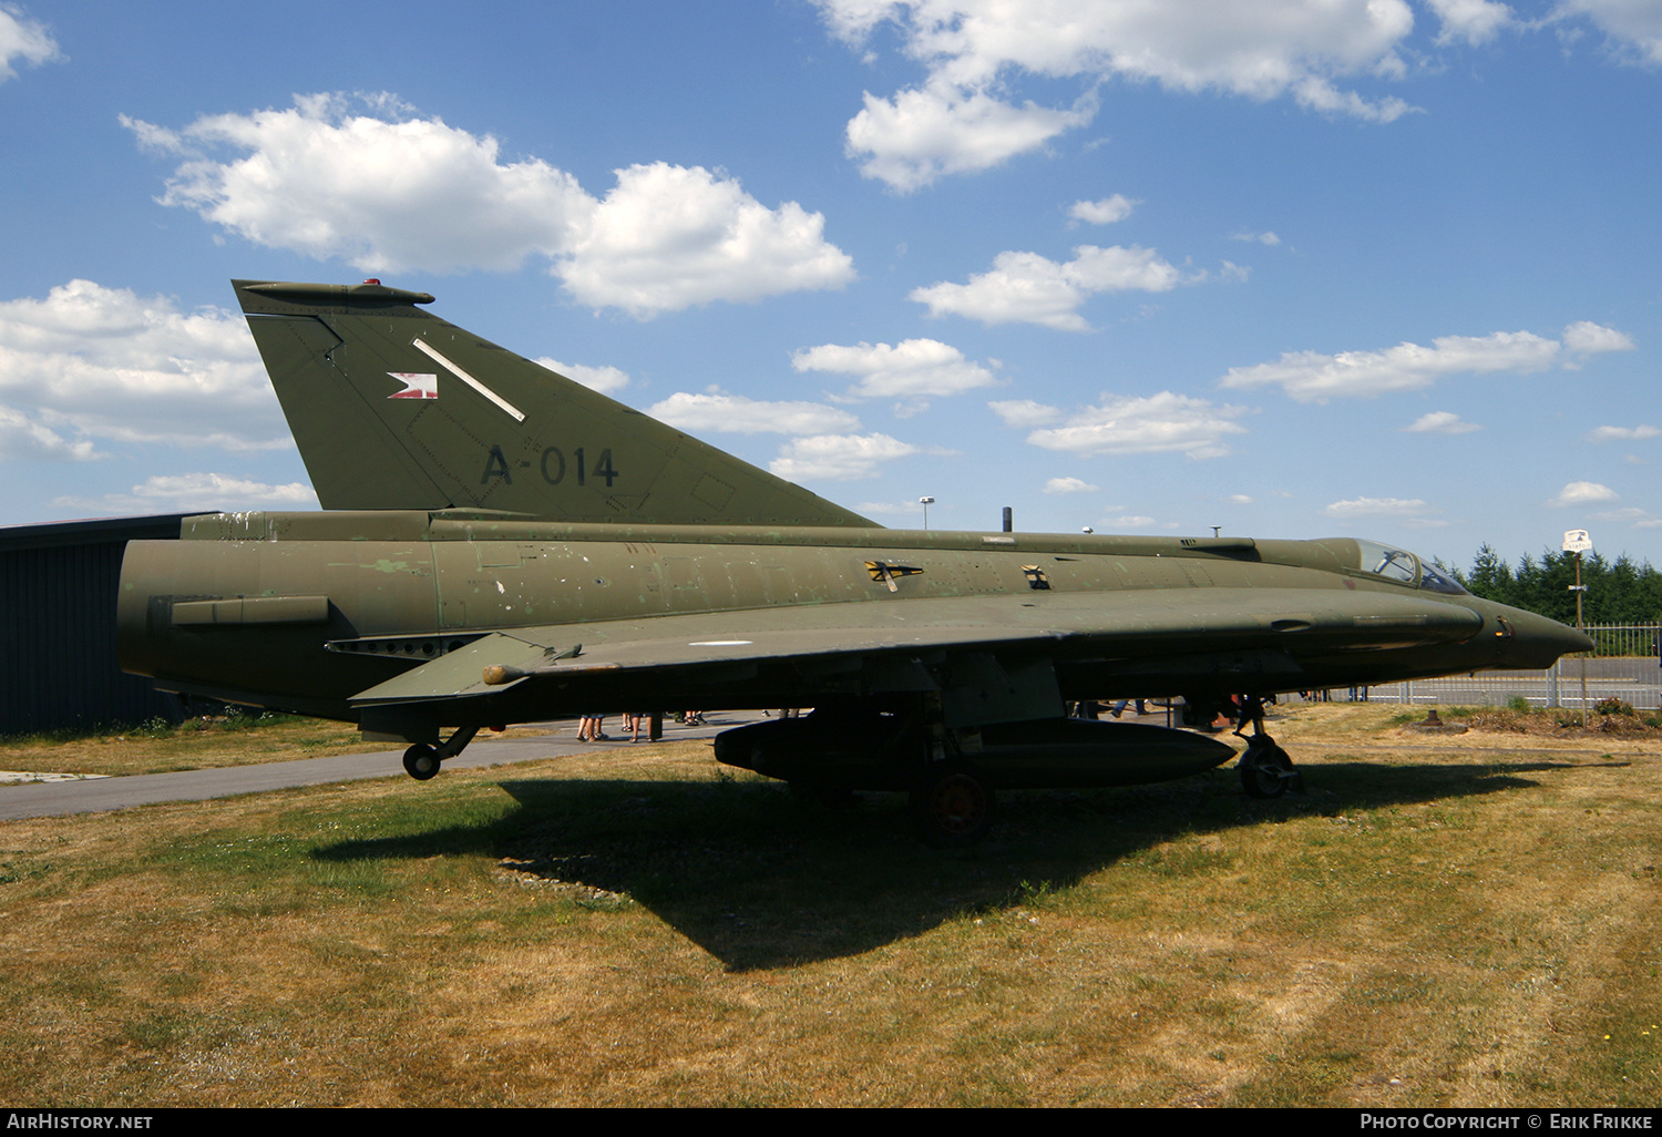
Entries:
<svg viewBox="0 0 1662 1137">
<path fill-rule="evenodd" d="M 1536 612 L 1561 623 L 1576 623 L 1576 554 L 1542 550 L 1541 557 L 1524 557 L 1517 567 L 1484 545 L 1471 568 L 1454 568 L 1436 562 L 1474 595 L 1497 600 L 1514 608 Z M 1662 572 L 1650 562 L 1635 565 L 1627 554 L 1605 560 L 1599 554 L 1582 555 L 1581 582 L 1587 585 L 1582 618 L 1587 623 L 1657 623 L 1662 622 Z"/>
</svg>

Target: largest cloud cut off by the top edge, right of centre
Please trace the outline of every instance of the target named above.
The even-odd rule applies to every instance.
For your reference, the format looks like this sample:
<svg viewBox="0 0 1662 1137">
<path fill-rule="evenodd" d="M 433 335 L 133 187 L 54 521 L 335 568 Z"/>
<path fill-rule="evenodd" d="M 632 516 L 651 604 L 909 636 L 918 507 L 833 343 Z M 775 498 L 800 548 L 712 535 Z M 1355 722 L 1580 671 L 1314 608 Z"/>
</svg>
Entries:
<svg viewBox="0 0 1662 1137">
<path fill-rule="evenodd" d="M 848 125 L 861 171 L 899 191 L 949 173 L 986 170 L 1042 148 L 1095 116 L 1094 88 L 1109 78 L 1253 100 L 1290 96 L 1331 115 L 1393 121 L 1399 98 L 1369 100 L 1336 86 L 1351 76 L 1396 78 L 1396 48 L 1413 30 L 1404 0 L 818 0 L 831 32 L 864 50 L 879 23 L 927 68 L 914 88 L 879 98 Z M 1017 101 L 1024 76 L 1077 80 L 1069 108 Z"/>
</svg>

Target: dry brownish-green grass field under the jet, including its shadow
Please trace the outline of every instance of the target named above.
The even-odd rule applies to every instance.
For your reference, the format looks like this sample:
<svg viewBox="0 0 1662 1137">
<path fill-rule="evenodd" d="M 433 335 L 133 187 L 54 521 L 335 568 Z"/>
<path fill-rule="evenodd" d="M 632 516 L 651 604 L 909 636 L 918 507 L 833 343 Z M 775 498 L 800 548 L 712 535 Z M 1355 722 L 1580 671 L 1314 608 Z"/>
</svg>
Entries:
<svg viewBox="0 0 1662 1137">
<path fill-rule="evenodd" d="M 1662 745 L 1271 725 L 942 854 L 701 743 L 0 824 L 8 1105 L 1647 1105 Z"/>
</svg>

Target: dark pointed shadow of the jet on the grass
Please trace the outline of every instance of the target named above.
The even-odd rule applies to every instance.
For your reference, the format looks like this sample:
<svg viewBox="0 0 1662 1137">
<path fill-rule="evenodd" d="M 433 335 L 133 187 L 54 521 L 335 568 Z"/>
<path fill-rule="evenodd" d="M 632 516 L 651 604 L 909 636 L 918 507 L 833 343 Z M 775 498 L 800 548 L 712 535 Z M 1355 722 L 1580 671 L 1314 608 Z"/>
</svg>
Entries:
<svg viewBox="0 0 1662 1137">
<path fill-rule="evenodd" d="M 479 826 L 324 846 L 326 861 L 489 854 L 504 868 L 628 896 L 730 971 L 856 956 L 966 916 L 1022 906 L 1107 868 L 1173 884 L 1237 858 L 1167 843 L 1240 826 L 1527 790 L 1524 775 L 1622 763 L 1311 765 L 1313 791 L 1240 796 L 1232 771 L 1120 790 L 1006 798 L 971 853 L 922 846 L 899 795 L 831 811 L 776 783 L 507 780 L 519 808 Z"/>
</svg>

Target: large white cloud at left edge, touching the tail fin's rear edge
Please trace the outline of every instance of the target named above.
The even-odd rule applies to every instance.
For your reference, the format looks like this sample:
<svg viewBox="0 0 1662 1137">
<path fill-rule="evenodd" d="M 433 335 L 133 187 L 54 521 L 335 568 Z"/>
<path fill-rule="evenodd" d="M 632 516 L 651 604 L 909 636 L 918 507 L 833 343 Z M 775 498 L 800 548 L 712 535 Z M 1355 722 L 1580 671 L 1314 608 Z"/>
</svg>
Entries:
<svg viewBox="0 0 1662 1137">
<path fill-rule="evenodd" d="M 78 439 L 293 444 L 241 316 L 93 281 L 0 301 L 0 392 Z"/>
</svg>

